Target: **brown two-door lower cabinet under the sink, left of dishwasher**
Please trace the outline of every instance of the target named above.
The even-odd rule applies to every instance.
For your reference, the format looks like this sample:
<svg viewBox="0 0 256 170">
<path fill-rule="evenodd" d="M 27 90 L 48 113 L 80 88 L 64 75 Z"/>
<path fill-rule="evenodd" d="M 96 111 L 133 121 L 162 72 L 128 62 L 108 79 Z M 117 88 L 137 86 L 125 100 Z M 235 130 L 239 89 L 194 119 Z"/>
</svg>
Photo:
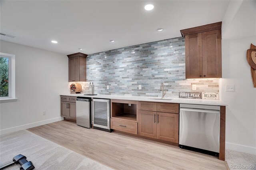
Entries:
<svg viewBox="0 0 256 170">
<path fill-rule="evenodd" d="M 179 143 L 179 104 L 154 103 L 153 112 L 150 107 L 143 106 L 145 102 L 138 102 L 138 135 L 148 138 Z"/>
</svg>

